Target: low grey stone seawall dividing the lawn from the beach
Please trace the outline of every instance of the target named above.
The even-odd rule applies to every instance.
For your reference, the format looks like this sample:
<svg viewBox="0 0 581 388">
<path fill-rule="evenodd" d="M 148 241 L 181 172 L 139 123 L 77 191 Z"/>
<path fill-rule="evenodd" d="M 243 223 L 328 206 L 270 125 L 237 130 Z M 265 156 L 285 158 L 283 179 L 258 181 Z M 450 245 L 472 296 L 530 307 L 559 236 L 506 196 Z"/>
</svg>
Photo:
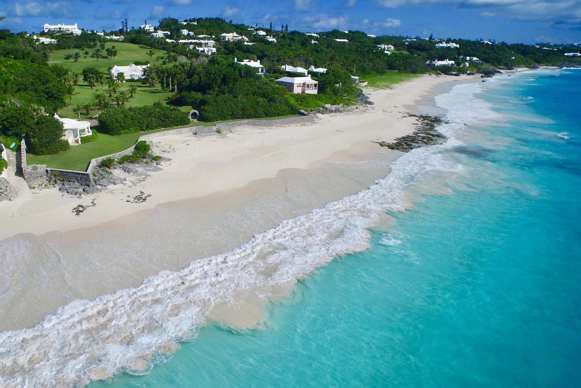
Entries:
<svg viewBox="0 0 581 388">
<path fill-rule="evenodd" d="M 209 133 L 216 133 L 217 129 L 224 129 L 224 130 L 231 130 L 238 127 L 244 126 L 278 126 L 278 125 L 300 125 L 300 124 L 308 124 L 313 122 L 316 118 L 315 115 L 302 115 L 299 117 L 288 117 L 288 118 L 281 118 L 281 119 L 274 119 L 274 120 L 265 120 L 265 119 L 250 119 L 250 120 L 239 120 L 239 121 L 231 121 L 231 122 L 223 122 L 219 124 L 214 124 L 214 126 L 189 126 L 188 128 L 177 128 L 177 129 L 170 129 L 164 130 L 161 132 L 155 133 L 148 133 L 146 135 L 140 136 L 137 139 L 137 142 L 141 142 L 142 140 L 150 141 L 156 139 L 157 137 L 167 136 L 167 135 L 185 135 L 191 133 L 192 135 L 207 135 Z M 71 171 L 71 170 L 63 170 L 57 168 L 46 168 L 45 165 L 30 165 L 27 166 L 26 164 L 26 145 L 24 144 L 24 138 L 21 142 L 21 165 L 22 165 L 22 173 L 24 176 L 24 180 L 29 187 L 32 186 L 41 186 L 41 184 L 46 183 L 48 177 L 56 178 L 58 180 L 66 180 L 66 181 L 75 181 L 84 186 L 94 186 L 95 182 L 93 180 L 93 171 L 95 167 L 101 164 L 101 161 L 106 158 L 114 158 L 119 159 L 125 155 L 130 155 L 133 152 L 134 146 L 127 148 L 127 150 L 105 155 L 99 158 L 95 158 L 91 160 L 87 171 Z M 58 174 L 58 175 L 57 175 Z"/>
</svg>

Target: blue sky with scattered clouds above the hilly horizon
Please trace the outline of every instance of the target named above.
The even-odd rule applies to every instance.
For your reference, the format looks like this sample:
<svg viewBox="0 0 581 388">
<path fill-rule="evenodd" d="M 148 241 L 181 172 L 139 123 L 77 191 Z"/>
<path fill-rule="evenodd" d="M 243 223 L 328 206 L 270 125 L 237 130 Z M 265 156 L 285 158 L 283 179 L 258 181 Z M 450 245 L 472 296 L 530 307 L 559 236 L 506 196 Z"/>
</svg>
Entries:
<svg viewBox="0 0 581 388">
<path fill-rule="evenodd" d="M 41 30 L 44 23 L 113 30 L 165 16 L 223 17 L 290 30 L 363 30 L 509 43 L 581 42 L 581 0 L 0 0 L 1 28 Z"/>
</svg>

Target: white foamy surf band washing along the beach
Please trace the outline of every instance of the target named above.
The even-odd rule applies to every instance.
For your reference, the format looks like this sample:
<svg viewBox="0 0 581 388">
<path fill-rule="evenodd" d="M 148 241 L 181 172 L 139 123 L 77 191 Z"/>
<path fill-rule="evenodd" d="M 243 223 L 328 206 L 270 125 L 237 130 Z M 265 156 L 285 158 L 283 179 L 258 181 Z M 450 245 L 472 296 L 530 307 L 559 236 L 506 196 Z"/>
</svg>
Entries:
<svg viewBox="0 0 581 388">
<path fill-rule="evenodd" d="M 446 143 L 404 154 L 368 190 L 286 220 L 232 251 L 162 271 L 136 288 L 74 300 L 33 328 L 0 333 L 0 385 L 80 386 L 119 372 L 144 374 L 194 338 L 217 303 L 296 282 L 337 255 L 367 248 L 368 228 L 382 213 L 406 208 L 406 186 L 431 171 L 462 171 L 440 153 L 462 144 L 454 137 L 462 123 L 494 117 L 474 98 L 481 91 L 465 84 L 437 96 L 448 110 L 449 122 L 438 128 Z"/>
</svg>

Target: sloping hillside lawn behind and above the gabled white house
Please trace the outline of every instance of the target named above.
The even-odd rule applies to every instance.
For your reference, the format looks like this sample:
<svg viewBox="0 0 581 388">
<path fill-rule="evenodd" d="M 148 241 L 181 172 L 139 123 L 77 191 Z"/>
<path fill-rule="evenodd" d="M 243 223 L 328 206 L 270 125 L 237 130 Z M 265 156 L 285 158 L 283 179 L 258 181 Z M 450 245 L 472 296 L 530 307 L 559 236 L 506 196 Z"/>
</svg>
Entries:
<svg viewBox="0 0 581 388">
<path fill-rule="evenodd" d="M 95 67 L 97 70 L 102 72 L 108 72 L 109 68 L 115 65 L 127 66 L 128 64 L 134 63 L 135 61 L 150 61 L 152 64 L 161 64 L 156 60 L 157 56 L 166 55 L 166 52 L 162 50 L 153 49 L 153 51 L 155 51 L 155 55 L 150 59 L 147 53 L 151 48 L 124 42 L 107 42 L 105 49 L 112 48 L 112 46 L 115 46 L 115 49 L 117 50 L 117 56 L 112 59 L 101 58 L 96 60 L 95 58 L 91 58 L 91 54 L 95 51 L 95 49 L 66 49 L 54 50 L 51 52 L 51 60 L 49 61 L 49 64 L 58 64 L 60 66 L 71 68 L 76 72 L 81 72 L 83 71 L 83 68 L 89 66 Z M 85 50 L 89 50 L 89 55 L 84 54 Z M 75 52 L 78 52 L 81 55 L 78 62 L 75 62 L 73 59 L 64 60 L 65 55 Z"/>
</svg>

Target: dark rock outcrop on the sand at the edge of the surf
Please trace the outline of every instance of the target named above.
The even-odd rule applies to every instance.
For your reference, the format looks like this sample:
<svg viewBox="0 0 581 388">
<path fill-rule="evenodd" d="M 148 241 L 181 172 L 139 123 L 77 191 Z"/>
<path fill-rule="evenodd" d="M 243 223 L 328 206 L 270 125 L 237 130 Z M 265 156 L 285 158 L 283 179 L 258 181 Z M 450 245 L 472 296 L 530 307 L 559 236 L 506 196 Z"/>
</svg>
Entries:
<svg viewBox="0 0 581 388">
<path fill-rule="evenodd" d="M 432 144 L 442 144 L 446 136 L 436 130 L 436 126 L 442 123 L 442 118 L 429 115 L 408 114 L 407 117 L 415 117 L 420 124 L 419 129 L 414 130 L 411 135 L 398 137 L 392 143 L 374 142 L 382 147 L 391 150 L 409 152 L 414 148 L 431 146 Z"/>
</svg>

